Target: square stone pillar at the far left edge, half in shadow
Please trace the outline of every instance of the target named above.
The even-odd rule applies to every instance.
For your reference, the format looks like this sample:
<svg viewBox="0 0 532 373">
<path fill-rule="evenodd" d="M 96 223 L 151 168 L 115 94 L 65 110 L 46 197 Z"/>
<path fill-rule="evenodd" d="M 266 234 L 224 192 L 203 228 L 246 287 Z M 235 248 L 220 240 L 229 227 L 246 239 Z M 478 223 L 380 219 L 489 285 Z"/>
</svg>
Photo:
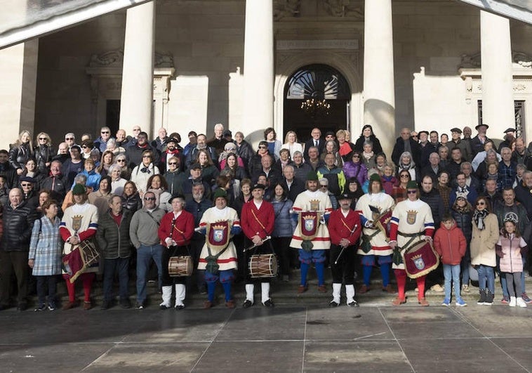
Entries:
<svg viewBox="0 0 532 373">
<path fill-rule="evenodd" d="M 0 149 L 9 150 L 18 134 L 34 133 L 35 93 L 39 39 L 16 44 L 0 51 Z"/>
</svg>

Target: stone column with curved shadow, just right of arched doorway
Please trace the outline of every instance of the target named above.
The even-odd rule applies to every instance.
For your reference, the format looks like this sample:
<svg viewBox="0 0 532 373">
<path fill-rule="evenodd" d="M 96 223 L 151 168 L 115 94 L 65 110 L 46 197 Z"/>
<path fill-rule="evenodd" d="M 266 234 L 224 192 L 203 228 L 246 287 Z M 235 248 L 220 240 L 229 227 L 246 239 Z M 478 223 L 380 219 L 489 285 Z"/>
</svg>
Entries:
<svg viewBox="0 0 532 373">
<path fill-rule="evenodd" d="M 371 124 L 383 150 L 391 154 L 396 137 L 392 0 L 366 0 L 364 8 L 362 125 Z"/>
</svg>

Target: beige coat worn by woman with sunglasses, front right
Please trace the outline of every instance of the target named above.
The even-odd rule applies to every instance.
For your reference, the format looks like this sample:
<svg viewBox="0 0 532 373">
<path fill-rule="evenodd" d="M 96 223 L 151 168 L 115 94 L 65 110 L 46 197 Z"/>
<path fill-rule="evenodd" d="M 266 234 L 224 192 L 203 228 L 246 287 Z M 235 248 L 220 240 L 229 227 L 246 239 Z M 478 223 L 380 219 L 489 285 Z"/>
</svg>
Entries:
<svg viewBox="0 0 532 373">
<path fill-rule="evenodd" d="M 488 214 L 484 218 L 484 229 L 479 230 L 477 224 L 473 221 L 473 230 L 471 237 L 471 264 L 478 266 L 495 267 L 495 244 L 499 240 L 499 224 L 495 214 Z"/>
</svg>

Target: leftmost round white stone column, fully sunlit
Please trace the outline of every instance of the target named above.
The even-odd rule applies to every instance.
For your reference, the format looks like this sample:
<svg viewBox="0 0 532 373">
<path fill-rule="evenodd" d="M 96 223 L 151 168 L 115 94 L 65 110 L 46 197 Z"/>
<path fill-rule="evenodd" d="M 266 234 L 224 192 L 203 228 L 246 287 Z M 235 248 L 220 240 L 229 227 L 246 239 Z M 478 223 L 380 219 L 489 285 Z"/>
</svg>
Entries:
<svg viewBox="0 0 532 373">
<path fill-rule="evenodd" d="M 138 125 L 153 138 L 153 65 L 155 2 L 129 8 L 126 18 L 120 128 L 128 135 Z"/>
</svg>

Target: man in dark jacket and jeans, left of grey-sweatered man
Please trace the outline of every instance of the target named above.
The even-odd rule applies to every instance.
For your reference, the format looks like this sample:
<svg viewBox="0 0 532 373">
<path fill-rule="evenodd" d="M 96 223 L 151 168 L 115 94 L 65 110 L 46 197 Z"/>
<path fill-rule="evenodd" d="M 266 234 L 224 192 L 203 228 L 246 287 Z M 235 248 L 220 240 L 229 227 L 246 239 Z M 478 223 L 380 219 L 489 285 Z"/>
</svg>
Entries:
<svg viewBox="0 0 532 373">
<path fill-rule="evenodd" d="M 112 306 L 114 275 L 118 274 L 120 306 L 130 308 L 128 296 L 128 268 L 131 258 L 129 225 L 131 211 L 122 208 L 122 198 L 114 195 L 109 202 L 109 211 L 98 219 L 96 240 L 103 257 L 103 303 L 102 310 Z"/>
</svg>

